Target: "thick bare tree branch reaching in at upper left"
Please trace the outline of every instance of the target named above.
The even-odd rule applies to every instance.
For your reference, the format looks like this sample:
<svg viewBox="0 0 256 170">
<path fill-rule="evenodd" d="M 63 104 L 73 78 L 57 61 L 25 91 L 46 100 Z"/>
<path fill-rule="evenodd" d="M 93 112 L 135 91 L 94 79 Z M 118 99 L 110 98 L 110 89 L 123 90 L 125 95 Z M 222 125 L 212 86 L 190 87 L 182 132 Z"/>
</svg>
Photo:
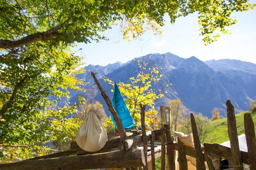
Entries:
<svg viewBox="0 0 256 170">
<path fill-rule="evenodd" d="M 74 15 L 74 12 L 71 13 Z M 67 25 L 71 21 L 71 18 L 68 18 L 65 22 L 60 25 L 57 25 L 48 31 L 45 32 L 37 32 L 31 35 L 28 35 L 20 40 L 12 41 L 12 40 L 0 40 L 0 48 L 17 48 L 23 45 L 31 44 L 37 41 L 49 41 L 52 40 L 52 36 L 59 34 L 56 31 Z"/>
</svg>

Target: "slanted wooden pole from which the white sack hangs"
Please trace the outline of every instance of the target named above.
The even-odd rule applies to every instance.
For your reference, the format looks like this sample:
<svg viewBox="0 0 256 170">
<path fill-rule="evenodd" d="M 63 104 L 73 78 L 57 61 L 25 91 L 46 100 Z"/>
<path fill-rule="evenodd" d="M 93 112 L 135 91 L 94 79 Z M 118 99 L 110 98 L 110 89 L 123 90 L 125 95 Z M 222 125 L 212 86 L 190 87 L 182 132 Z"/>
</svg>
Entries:
<svg viewBox="0 0 256 170">
<path fill-rule="evenodd" d="M 126 133 L 124 131 L 122 121 L 119 118 L 119 116 L 117 115 L 116 110 L 114 109 L 114 107 L 113 107 L 113 105 L 112 105 L 108 95 L 106 94 L 106 91 L 103 89 L 103 87 L 101 86 L 99 80 L 96 78 L 95 73 L 91 72 L 91 75 L 93 76 L 94 81 L 97 84 L 97 86 L 98 86 L 98 88 L 99 88 L 99 90 L 101 92 L 102 97 L 104 98 L 106 104 L 108 105 L 109 111 L 111 112 L 115 122 L 117 123 L 118 133 L 120 135 L 121 141 L 123 142 L 123 140 L 127 139 L 127 135 L 126 135 Z"/>
</svg>

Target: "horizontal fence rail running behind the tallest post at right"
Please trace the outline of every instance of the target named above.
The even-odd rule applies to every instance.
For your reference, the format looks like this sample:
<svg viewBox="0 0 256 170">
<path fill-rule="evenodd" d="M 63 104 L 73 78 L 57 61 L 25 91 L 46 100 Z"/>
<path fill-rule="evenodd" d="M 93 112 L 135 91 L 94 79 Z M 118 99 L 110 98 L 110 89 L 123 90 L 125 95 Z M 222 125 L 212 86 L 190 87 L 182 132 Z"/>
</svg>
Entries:
<svg viewBox="0 0 256 170">
<path fill-rule="evenodd" d="M 203 146 L 205 149 L 215 155 L 218 155 L 219 157 L 222 158 L 227 158 L 229 160 L 232 160 L 231 156 L 231 148 L 226 147 L 220 144 L 209 144 L 209 143 L 204 143 Z M 240 151 L 242 155 L 242 162 L 245 164 L 248 164 L 247 159 L 248 159 L 248 153 L 244 151 Z"/>
</svg>

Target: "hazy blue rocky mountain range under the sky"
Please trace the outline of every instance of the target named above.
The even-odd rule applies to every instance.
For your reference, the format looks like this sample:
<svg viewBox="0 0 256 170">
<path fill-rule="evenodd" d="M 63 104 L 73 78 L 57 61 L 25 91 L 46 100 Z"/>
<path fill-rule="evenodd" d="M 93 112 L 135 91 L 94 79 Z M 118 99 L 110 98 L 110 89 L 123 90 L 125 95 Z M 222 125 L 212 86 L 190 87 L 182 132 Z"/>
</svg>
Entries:
<svg viewBox="0 0 256 170">
<path fill-rule="evenodd" d="M 191 112 L 201 112 L 211 117 L 211 111 L 216 107 L 225 117 L 227 99 L 231 100 L 237 113 L 249 110 L 250 102 L 256 99 L 256 64 L 233 59 L 203 62 L 194 56 L 183 59 L 171 53 L 149 54 L 126 63 L 116 62 L 107 66 L 88 65 L 85 67 L 86 72 L 77 77 L 85 78 L 91 71 L 98 73 L 97 78 L 111 99 L 113 87 L 108 82 L 104 82 L 102 76 L 114 82 L 129 83 L 129 77 L 136 77 L 140 71 L 138 60 L 144 60 L 148 68 L 152 66 L 162 68 L 159 69 L 162 77 L 152 84 L 152 89 L 162 89 L 166 84 L 172 84 L 163 91 L 164 97 L 156 100 L 156 108 L 167 104 L 171 99 L 180 98 Z M 91 87 L 91 84 L 87 85 L 86 88 L 89 89 L 87 93 L 71 91 L 70 101 L 77 101 L 78 96 L 90 101 Z M 110 115 L 96 86 L 94 91 L 94 100 L 103 104 L 107 115 Z"/>
</svg>

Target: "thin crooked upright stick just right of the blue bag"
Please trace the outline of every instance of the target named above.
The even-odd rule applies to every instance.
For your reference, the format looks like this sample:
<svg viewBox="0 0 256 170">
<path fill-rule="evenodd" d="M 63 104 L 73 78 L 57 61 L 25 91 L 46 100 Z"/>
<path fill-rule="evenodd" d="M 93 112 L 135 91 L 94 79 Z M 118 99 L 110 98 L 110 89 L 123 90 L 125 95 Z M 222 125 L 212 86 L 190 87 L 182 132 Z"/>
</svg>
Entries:
<svg viewBox="0 0 256 170">
<path fill-rule="evenodd" d="M 145 127 L 145 110 L 146 110 L 146 105 L 143 105 L 140 103 L 140 122 L 141 122 L 141 131 L 142 131 L 142 140 L 143 140 L 143 151 L 144 151 L 144 156 L 145 156 L 145 162 L 147 162 L 147 152 L 148 152 L 148 141 L 147 141 L 147 136 L 146 136 L 146 127 Z M 144 170 L 148 170 L 148 165 L 147 163 L 143 166 Z"/>
</svg>

